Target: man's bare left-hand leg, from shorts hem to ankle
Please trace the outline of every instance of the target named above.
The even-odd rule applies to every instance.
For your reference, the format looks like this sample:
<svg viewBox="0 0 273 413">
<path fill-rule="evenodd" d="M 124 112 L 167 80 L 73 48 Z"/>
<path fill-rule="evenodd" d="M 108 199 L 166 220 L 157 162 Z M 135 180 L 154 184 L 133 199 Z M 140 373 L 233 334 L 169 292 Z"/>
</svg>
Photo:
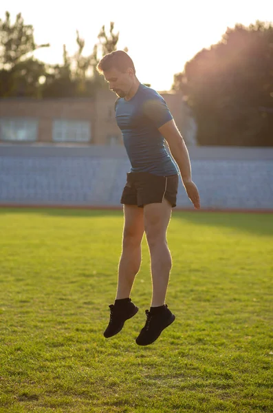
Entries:
<svg viewBox="0 0 273 413">
<path fill-rule="evenodd" d="M 144 211 L 136 205 L 124 205 L 122 255 L 118 266 L 116 299 L 130 297 L 135 275 L 140 270 Z"/>
</svg>

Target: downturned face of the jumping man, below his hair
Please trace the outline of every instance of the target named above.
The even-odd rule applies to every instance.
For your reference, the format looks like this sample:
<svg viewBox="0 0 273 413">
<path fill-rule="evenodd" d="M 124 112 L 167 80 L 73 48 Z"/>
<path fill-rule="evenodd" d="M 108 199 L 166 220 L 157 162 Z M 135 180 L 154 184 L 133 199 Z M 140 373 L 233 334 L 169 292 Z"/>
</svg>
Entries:
<svg viewBox="0 0 273 413">
<path fill-rule="evenodd" d="M 115 92 L 120 98 L 124 98 L 129 93 L 133 82 L 133 71 L 128 69 L 125 73 L 120 72 L 115 67 L 103 73 L 105 81 L 109 83 L 109 89 Z"/>
</svg>

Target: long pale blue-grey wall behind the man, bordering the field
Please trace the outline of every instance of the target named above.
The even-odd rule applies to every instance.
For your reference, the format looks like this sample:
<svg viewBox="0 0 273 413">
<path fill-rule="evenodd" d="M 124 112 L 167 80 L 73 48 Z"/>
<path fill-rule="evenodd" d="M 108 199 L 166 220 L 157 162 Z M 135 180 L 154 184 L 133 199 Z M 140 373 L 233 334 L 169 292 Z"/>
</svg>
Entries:
<svg viewBox="0 0 273 413">
<path fill-rule="evenodd" d="M 273 148 L 190 147 L 204 209 L 273 210 Z M 0 204 L 120 207 L 124 147 L 0 145 Z M 192 208 L 179 183 L 178 208 Z"/>
</svg>

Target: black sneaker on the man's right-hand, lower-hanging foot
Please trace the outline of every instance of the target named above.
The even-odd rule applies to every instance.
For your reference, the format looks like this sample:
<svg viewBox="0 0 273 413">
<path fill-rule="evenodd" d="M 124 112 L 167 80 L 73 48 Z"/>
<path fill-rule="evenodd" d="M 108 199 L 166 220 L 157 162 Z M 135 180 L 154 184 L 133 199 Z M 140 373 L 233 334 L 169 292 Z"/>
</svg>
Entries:
<svg viewBox="0 0 273 413">
<path fill-rule="evenodd" d="M 168 306 L 159 314 L 151 314 L 149 310 L 146 313 L 146 324 L 140 331 L 140 335 L 135 340 L 138 346 L 148 346 L 160 337 L 164 328 L 170 326 L 175 321 L 175 315 L 171 313 Z"/>
</svg>

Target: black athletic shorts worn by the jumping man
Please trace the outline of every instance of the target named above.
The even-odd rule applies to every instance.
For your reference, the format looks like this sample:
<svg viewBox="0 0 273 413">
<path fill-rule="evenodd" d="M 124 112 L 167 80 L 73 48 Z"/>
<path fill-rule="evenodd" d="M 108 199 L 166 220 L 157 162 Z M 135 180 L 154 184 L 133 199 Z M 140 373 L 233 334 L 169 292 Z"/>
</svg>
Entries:
<svg viewBox="0 0 273 413">
<path fill-rule="evenodd" d="M 162 202 L 164 198 L 176 206 L 178 175 L 157 176 L 149 172 L 129 172 L 122 192 L 121 204 L 138 205 Z"/>
</svg>

